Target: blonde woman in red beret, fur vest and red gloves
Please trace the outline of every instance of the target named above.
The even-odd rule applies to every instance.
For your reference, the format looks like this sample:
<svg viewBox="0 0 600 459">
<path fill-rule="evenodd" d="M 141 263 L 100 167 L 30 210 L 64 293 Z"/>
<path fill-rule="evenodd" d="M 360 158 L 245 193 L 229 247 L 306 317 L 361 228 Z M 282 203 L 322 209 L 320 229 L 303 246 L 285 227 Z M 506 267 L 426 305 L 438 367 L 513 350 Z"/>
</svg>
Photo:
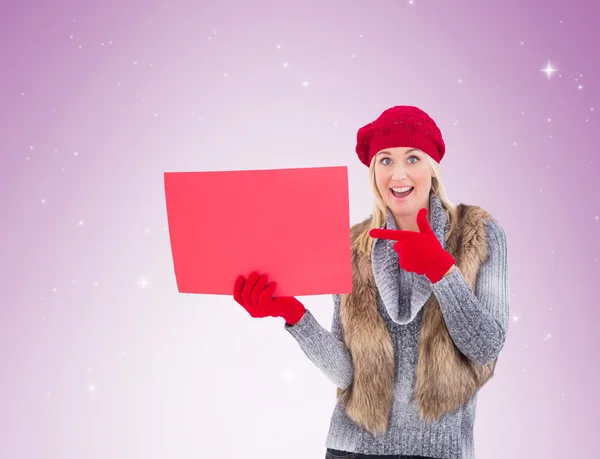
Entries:
<svg viewBox="0 0 600 459">
<path fill-rule="evenodd" d="M 331 332 L 265 275 L 234 298 L 277 316 L 333 381 L 328 458 L 474 458 L 477 392 L 493 376 L 509 316 L 506 236 L 483 209 L 453 206 L 445 144 L 422 110 L 396 106 L 359 129 L 371 217 L 354 225 L 352 294 L 334 295 Z"/>
</svg>

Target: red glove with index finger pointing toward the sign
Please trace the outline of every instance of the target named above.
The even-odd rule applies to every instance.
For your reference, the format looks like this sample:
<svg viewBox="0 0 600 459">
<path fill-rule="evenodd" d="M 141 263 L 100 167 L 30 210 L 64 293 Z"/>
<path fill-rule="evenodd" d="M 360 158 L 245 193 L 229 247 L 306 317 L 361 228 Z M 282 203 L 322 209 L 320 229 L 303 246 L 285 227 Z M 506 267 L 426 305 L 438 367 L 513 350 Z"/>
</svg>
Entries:
<svg viewBox="0 0 600 459">
<path fill-rule="evenodd" d="M 398 252 L 399 264 L 406 271 L 424 274 L 435 283 L 454 265 L 455 259 L 444 250 L 427 221 L 427 209 L 417 214 L 419 232 L 375 228 L 369 236 L 398 241 L 394 250 Z"/>
</svg>

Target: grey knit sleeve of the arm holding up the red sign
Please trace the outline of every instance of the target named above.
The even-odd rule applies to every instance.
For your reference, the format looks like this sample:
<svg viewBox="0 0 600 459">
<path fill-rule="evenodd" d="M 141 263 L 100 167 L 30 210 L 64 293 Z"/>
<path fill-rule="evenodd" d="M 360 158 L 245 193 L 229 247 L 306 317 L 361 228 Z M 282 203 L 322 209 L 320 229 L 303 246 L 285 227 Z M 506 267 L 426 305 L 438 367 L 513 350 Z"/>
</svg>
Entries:
<svg viewBox="0 0 600 459">
<path fill-rule="evenodd" d="M 331 332 L 323 328 L 307 309 L 302 319 L 284 328 L 296 339 L 302 351 L 337 387 L 352 383 L 354 369 L 350 351 L 344 343 L 340 324 L 340 297 L 333 295 Z"/>
</svg>

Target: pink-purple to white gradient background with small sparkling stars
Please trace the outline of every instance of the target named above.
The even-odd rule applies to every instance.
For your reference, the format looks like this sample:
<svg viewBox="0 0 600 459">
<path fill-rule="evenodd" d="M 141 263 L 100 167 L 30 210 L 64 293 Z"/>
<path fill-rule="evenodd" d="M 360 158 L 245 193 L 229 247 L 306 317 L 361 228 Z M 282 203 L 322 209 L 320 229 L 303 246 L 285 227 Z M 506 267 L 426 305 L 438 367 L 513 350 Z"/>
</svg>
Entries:
<svg viewBox="0 0 600 459">
<path fill-rule="evenodd" d="M 3 5 L 0 457 L 324 457 L 335 387 L 283 323 L 177 293 L 163 173 L 347 165 L 357 222 L 356 130 L 401 104 L 508 237 L 477 457 L 600 457 L 600 4 L 249 3 Z"/>
</svg>

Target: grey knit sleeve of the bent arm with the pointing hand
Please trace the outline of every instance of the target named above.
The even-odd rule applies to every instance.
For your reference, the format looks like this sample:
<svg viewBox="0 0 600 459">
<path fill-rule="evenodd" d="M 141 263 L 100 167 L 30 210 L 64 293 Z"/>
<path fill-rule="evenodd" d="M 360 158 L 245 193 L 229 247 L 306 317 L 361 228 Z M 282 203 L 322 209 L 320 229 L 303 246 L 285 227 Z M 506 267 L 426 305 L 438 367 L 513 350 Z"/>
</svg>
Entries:
<svg viewBox="0 0 600 459">
<path fill-rule="evenodd" d="M 481 365 L 492 362 L 504 346 L 510 302 L 506 234 L 492 219 L 486 231 L 489 257 L 480 268 L 475 292 L 458 267 L 433 284 L 452 340 Z"/>
</svg>

